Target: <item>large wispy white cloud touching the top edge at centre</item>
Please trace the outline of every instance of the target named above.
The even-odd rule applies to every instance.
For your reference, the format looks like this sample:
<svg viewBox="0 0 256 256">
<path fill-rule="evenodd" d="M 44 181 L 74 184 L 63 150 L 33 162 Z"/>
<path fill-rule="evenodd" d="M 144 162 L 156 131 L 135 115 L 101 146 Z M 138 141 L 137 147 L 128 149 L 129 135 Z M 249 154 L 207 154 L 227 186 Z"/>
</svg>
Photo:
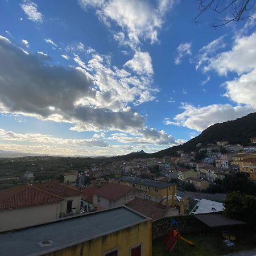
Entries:
<svg viewBox="0 0 256 256">
<path fill-rule="evenodd" d="M 136 48 L 142 40 L 158 42 L 158 32 L 164 23 L 164 16 L 175 1 L 160 0 L 151 3 L 145 0 L 79 0 L 79 5 L 87 10 L 96 9 L 96 14 L 107 26 L 114 22 L 121 28 L 114 38 L 122 44 Z M 122 34 L 119 34 L 122 32 Z M 126 35 L 125 35 L 126 34 Z"/>
</svg>

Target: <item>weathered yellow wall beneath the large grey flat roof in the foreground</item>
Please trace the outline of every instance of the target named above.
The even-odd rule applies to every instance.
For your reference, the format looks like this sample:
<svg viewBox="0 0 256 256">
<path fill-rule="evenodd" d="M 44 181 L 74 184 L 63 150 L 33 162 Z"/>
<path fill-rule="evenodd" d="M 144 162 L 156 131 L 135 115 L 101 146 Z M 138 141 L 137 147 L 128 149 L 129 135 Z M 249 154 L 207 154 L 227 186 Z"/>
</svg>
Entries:
<svg viewBox="0 0 256 256">
<path fill-rule="evenodd" d="M 81 237 L 82 239 L 82 237 Z M 119 248 L 120 256 L 130 256 L 130 248 L 142 245 L 143 256 L 152 255 L 151 221 L 122 229 L 84 243 L 46 254 L 47 256 L 103 256 L 108 250 Z"/>
</svg>

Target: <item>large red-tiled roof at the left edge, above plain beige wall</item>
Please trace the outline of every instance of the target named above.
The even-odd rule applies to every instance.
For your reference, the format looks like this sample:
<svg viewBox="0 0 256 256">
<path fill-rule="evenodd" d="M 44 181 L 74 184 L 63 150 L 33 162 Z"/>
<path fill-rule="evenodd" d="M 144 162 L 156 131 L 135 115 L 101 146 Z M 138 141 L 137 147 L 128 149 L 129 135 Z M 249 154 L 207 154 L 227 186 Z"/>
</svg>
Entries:
<svg viewBox="0 0 256 256">
<path fill-rule="evenodd" d="M 50 204 L 64 200 L 62 197 L 53 195 L 47 191 L 31 185 L 4 189 L 0 192 L 0 209 L 12 209 L 29 207 L 39 204 Z"/>
</svg>

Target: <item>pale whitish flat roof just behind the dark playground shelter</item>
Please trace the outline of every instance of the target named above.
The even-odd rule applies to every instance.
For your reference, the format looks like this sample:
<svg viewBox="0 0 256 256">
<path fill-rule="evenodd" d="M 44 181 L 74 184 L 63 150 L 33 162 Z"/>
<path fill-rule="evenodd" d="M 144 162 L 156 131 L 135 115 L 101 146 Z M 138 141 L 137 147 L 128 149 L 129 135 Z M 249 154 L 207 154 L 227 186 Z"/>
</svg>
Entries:
<svg viewBox="0 0 256 256">
<path fill-rule="evenodd" d="M 222 203 L 207 199 L 193 199 L 189 203 L 193 205 L 190 214 L 223 212 L 225 209 Z"/>
</svg>

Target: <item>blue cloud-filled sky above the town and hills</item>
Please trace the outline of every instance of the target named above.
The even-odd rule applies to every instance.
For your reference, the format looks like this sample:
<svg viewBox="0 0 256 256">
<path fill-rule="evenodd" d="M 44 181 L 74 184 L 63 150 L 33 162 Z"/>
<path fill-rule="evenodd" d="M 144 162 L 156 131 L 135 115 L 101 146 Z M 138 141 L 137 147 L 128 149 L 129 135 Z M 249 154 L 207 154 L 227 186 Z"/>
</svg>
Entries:
<svg viewBox="0 0 256 256">
<path fill-rule="evenodd" d="M 256 19 L 198 3 L 2 0 L 0 150 L 156 152 L 255 112 Z"/>
</svg>

